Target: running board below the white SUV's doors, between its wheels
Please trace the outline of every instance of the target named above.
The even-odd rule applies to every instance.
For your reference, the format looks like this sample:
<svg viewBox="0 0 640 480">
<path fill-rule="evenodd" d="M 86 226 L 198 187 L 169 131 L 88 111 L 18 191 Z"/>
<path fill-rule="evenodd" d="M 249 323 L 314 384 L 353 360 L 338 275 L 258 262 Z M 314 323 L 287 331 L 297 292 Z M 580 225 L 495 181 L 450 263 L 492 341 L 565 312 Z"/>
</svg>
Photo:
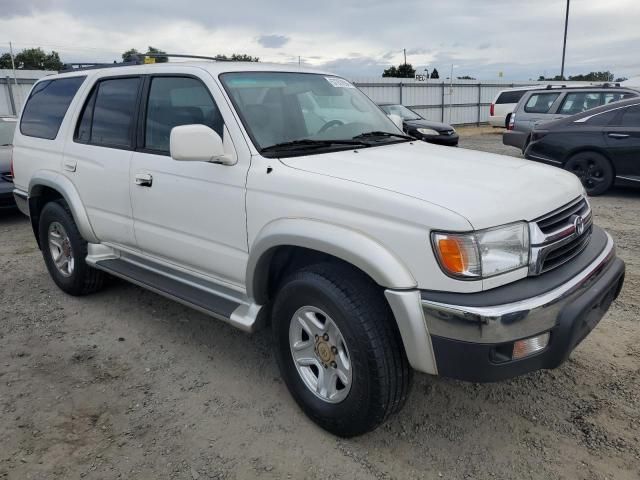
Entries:
<svg viewBox="0 0 640 480">
<path fill-rule="evenodd" d="M 215 291 L 212 284 L 207 286 L 194 283 L 191 279 L 180 279 L 176 274 L 125 258 L 107 258 L 91 261 L 94 268 L 122 278 L 159 295 L 175 300 L 207 315 L 225 321 L 245 332 L 258 329 L 260 306 L 240 299 L 231 298 L 228 292 Z"/>
</svg>

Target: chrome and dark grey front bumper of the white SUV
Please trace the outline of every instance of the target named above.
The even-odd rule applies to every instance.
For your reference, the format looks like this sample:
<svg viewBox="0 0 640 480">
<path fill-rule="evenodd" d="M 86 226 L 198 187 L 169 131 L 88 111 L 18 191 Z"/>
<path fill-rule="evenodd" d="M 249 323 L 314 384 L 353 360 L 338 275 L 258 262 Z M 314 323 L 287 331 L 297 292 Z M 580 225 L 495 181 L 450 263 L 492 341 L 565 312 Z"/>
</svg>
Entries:
<svg viewBox="0 0 640 480">
<path fill-rule="evenodd" d="M 615 256 L 613 240 L 597 230 L 604 239 L 604 248 L 591 253 L 585 250 L 569 262 L 578 265 L 579 257 L 592 255 L 580 272 L 572 272 L 568 264 L 565 272 L 571 276 L 551 290 L 522 298 L 522 288 L 499 287 L 484 292 L 485 304 L 482 293 L 422 292 L 422 308 L 438 374 L 487 382 L 555 368 L 566 360 L 604 316 L 624 281 L 624 262 Z M 544 283 L 549 283 L 550 278 Z M 530 282 L 529 287 L 522 284 L 526 289 L 532 284 L 544 285 L 540 279 L 520 282 Z M 516 290 L 517 295 L 510 301 L 508 297 Z M 443 297 L 447 303 L 441 301 Z M 457 302 L 451 301 L 456 298 Z M 503 298 L 504 303 L 496 304 L 496 298 Z M 519 360 L 505 357 L 504 352 L 511 352 L 515 341 L 545 332 L 550 333 L 549 343 L 539 353 Z"/>
</svg>

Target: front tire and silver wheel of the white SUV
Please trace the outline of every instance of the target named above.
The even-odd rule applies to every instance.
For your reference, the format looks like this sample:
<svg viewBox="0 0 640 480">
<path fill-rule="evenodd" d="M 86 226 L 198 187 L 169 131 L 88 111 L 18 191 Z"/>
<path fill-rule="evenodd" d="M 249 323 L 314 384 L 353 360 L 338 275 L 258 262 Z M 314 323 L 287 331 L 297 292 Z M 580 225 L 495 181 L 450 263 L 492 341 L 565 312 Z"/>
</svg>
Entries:
<svg viewBox="0 0 640 480">
<path fill-rule="evenodd" d="M 324 328 L 331 333 L 328 339 L 306 334 L 315 348 L 302 349 L 312 360 L 302 367 L 296 366 L 292 347 L 306 344 L 305 333 L 295 342 L 296 332 L 305 331 L 298 317 L 304 318 L 309 328 L 313 323 L 316 330 L 318 322 L 324 321 Z M 337 327 L 337 334 L 330 322 Z M 382 290 L 361 272 L 348 265 L 327 263 L 293 273 L 276 296 L 272 328 L 285 384 L 305 414 L 325 430 L 341 437 L 361 435 L 404 405 L 413 372 Z M 327 349 L 322 348 L 323 340 L 335 354 L 333 364 L 326 356 Z M 347 363 L 351 374 L 348 386 L 340 376 L 345 375 L 347 370 L 341 367 Z M 329 382 L 335 386 L 333 398 L 327 395 L 329 389 L 312 391 L 308 386 L 322 371 L 327 372 L 327 378 L 336 379 Z"/>
</svg>

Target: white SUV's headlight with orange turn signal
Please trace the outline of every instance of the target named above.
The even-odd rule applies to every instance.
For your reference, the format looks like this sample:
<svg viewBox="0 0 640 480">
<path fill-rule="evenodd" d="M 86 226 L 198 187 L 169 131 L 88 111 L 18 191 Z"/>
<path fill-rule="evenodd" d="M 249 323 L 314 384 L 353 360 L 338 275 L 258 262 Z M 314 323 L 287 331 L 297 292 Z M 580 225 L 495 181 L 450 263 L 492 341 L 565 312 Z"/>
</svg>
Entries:
<svg viewBox="0 0 640 480">
<path fill-rule="evenodd" d="M 529 228 L 525 222 L 471 233 L 431 234 L 440 268 L 465 279 L 492 277 L 529 264 Z"/>
</svg>

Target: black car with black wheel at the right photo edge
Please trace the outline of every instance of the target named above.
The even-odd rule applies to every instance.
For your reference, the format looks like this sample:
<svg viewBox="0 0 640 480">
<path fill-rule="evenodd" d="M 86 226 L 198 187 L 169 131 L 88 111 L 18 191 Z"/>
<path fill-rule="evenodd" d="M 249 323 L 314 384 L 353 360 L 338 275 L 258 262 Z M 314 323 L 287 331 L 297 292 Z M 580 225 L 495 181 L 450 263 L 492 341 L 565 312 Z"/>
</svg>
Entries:
<svg viewBox="0 0 640 480">
<path fill-rule="evenodd" d="M 525 157 L 575 173 L 589 195 L 640 187 L 640 98 L 537 126 Z"/>
</svg>

